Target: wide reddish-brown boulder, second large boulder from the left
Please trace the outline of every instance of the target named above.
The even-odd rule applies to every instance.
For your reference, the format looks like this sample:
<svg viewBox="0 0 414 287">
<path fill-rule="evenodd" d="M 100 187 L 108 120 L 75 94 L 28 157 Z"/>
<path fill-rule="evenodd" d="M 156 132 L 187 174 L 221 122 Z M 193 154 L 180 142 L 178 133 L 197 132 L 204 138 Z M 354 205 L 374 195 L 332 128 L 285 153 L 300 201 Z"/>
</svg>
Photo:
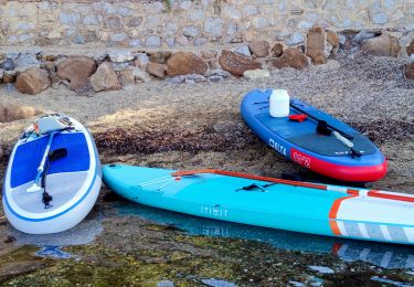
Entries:
<svg viewBox="0 0 414 287">
<path fill-rule="evenodd" d="M 68 87 L 81 92 L 89 86 L 89 76 L 96 71 L 96 63 L 87 56 L 71 56 L 57 65 L 57 76 L 68 82 Z"/>
</svg>

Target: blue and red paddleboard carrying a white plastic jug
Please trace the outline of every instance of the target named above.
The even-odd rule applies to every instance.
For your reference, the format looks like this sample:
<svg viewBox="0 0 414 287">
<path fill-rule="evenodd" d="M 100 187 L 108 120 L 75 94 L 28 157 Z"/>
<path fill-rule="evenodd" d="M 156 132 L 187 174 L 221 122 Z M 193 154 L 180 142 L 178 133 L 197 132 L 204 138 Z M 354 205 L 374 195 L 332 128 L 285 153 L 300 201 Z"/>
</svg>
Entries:
<svg viewBox="0 0 414 287">
<path fill-rule="evenodd" d="M 277 152 L 341 181 L 369 182 L 385 176 L 385 157 L 359 131 L 299 99 L 290 99 L 288 117 L 272 117 L 270 94 L 272 89 L 250 92 L 241 111 L 247 126 Z"/>
</svg>

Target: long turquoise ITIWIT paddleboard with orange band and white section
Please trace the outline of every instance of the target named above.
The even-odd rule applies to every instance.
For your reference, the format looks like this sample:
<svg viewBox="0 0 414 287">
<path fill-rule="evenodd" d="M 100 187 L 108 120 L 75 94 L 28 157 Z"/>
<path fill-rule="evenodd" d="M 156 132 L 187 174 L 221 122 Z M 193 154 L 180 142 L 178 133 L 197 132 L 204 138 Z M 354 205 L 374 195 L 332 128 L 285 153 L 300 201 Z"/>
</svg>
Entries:
<svg viewBox="0 0 414 287">
<path fill-rule="evenodd" d="M 351 240 L 414 244 L 414 195 L 220 171 L 109 164 L 117 194 L 190 215 Z"/>
</svg>

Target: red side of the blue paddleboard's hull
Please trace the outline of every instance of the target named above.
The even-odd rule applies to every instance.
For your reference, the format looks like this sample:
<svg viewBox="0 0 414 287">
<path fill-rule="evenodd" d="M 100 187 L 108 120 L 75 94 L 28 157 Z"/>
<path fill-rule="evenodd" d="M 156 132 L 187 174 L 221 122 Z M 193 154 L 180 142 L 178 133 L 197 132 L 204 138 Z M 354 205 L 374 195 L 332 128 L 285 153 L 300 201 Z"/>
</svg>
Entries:
<svg viewBox="0 0 414 287">
<path fill-rule="evenodd" d="M 376 181 L 386 173 L 386 160 L 378 166 L 341 166 L 309 156 L 295 148 L 290 149 L 290 159 L 300 166 L 320 174 L 343 181 Z"/>
</svg>

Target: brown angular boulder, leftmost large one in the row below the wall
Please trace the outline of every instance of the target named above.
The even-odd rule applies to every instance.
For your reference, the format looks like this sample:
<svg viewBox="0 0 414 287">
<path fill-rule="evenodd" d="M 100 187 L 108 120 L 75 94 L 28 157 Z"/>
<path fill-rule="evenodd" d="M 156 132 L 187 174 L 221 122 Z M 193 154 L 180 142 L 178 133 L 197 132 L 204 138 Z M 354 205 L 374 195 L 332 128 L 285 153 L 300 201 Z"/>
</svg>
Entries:
<svg viewBox="0 0 414 287">
<path fill-rule="evenodd" d="M 20 73 L 15 81 L 15 88 L 23 94 L 36 95 L 51 86 L 49 73 L 39 67 L 32 67 Z"/>
</svg>

